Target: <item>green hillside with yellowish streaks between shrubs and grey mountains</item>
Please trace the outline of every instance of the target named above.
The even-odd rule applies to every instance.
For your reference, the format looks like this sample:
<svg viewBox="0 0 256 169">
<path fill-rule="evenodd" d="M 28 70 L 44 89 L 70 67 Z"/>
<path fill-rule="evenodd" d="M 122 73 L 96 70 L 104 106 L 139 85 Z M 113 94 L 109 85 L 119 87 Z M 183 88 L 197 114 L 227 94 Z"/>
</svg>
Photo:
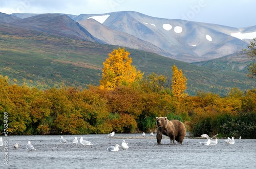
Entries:
<svg viewBox="0 0 256 169">
<path fill-rule="evenodd" d="M 118 46 L 73 40 L 37 31 L 0 25 L 0 74 L 9 83 L 39 89 L 99 84 L 102 63 Z M 145 72 L 172 75 L 175 64 L 188 79 L 186 92 L 199 90 L 225 95 L 229 89 L 251 89 L 256 82 L 243 73 L 214 70 L 169 59 L 161 55 L 126 48 L 133 65 Z"/>
</svg>

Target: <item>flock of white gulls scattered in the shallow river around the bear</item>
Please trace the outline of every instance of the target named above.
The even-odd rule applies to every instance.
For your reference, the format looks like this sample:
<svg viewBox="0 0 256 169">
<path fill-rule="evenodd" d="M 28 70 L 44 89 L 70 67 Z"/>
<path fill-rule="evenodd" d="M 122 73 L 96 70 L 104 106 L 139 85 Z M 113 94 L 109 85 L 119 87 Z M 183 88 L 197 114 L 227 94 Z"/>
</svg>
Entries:
<svg viewBox="0 0 256 169">
<path fill-rule="evenodd" d="M 115 132 L 113 131 L 112 133 L 108 134 L 108 137 L 112 137 L 115 135 Z M 218 138 L 215 138 L 218 134 L 216 134 L 215 136 L 213 137 L 209 137 L 209 135 L 207 134 L 202 134 L 201 137 L 205 137 L 207 138 L 207 142 L 199 142 L 201 145 L 205 145 L 205 146 L 208 146 L 208 145 L 217 145 L 218 144 Z M 142 136 L 146 136 L 146 134 L 143 132 L 142 133 Z M 150 133 L 150 136 L 154 136 L 154 133 L 151 132 Z M 215 139 L 214 139 L 215 138 Z M 241 139 L 241 136 L 239 137 L 239 139 Z M 59 139 L 59 142 L 61 144 L 66 144 L 67 143 L 67 140 L 65 138 L 63 138 L 63 136 L 60 136 L 60 139 Z M 77 143 L 78 143 L 78 139 L 77 137 L 75 137 L 73 139 L 73 144 L 75 144 L 77 146 Z M 85 146 L 92 146 L 91 142 L 87 141 L 87 140 L 84 140 L 82 137 L 79 137 L 79 143 L 81 145 L 83 145 L 83 147 Z M 234 137 L 231 137 L 231 139 L 229 137 L 227 137 L 226 140 L 224 140 L 224 143 L 225 144 L 228 144 L 228 145 L 233 145 L 234 144 Z M 3 138 L 0 137 L 0 146 L 3 146 Z M 18 143 L 16 143 L 14 146 L 13 146 L 15 149 L 18 149 Z M 127 150 L 129 148 L 128 144 L 125 143 L 125 140 L 122 141 L 122 144 L 121 146 L 119 146 L 118 144 L 116 144 L 115 146 L 111 146 L 111 147 L 108 147 L 106 150 L 107 151 L 110 151 L 110 152 L 113 152 L 113 151 L 119 151 L 119 147 L 122 147 L 123 150 Z M 30 151 L 33 151 L 33 150 L 36 150 L 34 148 L 34 146 L 31 144 L 30 141 L 28 141 L 28 144 L 26 146 L 26 148 Z"/>
</svg>

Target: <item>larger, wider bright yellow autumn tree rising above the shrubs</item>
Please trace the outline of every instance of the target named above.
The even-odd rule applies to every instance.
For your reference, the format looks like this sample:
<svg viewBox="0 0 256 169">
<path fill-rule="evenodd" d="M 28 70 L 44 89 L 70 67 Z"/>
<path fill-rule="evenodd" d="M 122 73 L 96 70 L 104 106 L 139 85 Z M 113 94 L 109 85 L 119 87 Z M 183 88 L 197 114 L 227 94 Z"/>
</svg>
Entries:
<svg viewBox="0 0 256 169">
<path fill-rule="evenodd" d="M 119 85 L 128 87 L 138 86 L 144 73 L 137 71 L 132 66 L 130 52 L 124 48 L 114 49 L 109 53 L 109 58 L 103 63 L 102 79 L 100 87 L 102 89 L 114 89 Z"/>
</svg>

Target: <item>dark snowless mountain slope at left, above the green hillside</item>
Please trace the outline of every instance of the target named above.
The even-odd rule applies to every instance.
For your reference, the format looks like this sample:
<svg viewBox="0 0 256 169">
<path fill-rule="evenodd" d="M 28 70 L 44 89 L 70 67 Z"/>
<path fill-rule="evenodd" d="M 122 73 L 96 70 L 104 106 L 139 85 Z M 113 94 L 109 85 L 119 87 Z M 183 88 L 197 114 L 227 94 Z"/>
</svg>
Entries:
<svg viewBox="0 0 256 169">
<path fill-rule="evenodd" d="M 22 29 L 34 30 L 49 33 L 52 35 L 73 38 L 77 40 L 86 40 L 90 42 L 99 42 L 84 27 L 72 20 L 67 15 L 60 14 L 40 14 L 20 19 L 15 16 L 8 16 L 1 13 L 2 23 L 8 23 L 7 26 L 17 26 Z M 30 15 L 26 15 L 30 16 Z"/>
</svg>

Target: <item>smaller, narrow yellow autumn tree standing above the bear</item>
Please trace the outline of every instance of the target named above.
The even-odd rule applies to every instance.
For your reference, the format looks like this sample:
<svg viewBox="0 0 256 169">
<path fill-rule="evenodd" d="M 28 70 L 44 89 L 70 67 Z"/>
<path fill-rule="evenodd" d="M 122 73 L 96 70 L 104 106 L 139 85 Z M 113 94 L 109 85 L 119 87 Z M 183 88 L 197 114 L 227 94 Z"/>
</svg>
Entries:
<svg viewBox="0 0 256 169">
<path fill-rule="evenodd" d="M 173 95 L 180 99 L 184 96 L 186 96 L 186 93 L 184 91 L 187 89 L 187 79 L 185 76 L 183 76 L 182 70 L 178 70 L 178 68 L 174 65 L 172 67 L 173 69 L 173 78 L 172 78 L 172 91 Z"/>
</svg>

